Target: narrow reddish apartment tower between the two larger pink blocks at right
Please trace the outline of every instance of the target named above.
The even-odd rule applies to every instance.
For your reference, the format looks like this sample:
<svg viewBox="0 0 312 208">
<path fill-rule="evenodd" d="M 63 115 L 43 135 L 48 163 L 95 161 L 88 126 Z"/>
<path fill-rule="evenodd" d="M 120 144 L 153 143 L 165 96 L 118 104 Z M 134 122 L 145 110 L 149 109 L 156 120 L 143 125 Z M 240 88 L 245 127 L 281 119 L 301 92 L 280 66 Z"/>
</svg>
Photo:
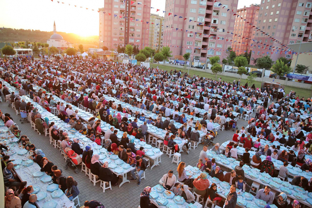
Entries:
<svg viewBox="0 0 312 208">
<path fill-rule="evenodd" d="M 251 50 L 251 40 L 253 28 L 248 25 L 247 22 L 254 24 L 258 20 L 260 6 L 258 4 L 251 4 L 249 7 L 244 6 L 244 8 L 237 9 L 237 14 L 240 16 L 235 16 L 234 34 L 232 37 L 232 48 L 236 51 L 236 55 L 243 54 L 245 51 Z M 243 19 L 246 19 L 244 21 Z M 239 37 L 241 36 L 241 37 Z M 243 38 L 244 37 L 244 38 Z M 246 39 L 246 37 L 248 39 Z"/>
</svg>

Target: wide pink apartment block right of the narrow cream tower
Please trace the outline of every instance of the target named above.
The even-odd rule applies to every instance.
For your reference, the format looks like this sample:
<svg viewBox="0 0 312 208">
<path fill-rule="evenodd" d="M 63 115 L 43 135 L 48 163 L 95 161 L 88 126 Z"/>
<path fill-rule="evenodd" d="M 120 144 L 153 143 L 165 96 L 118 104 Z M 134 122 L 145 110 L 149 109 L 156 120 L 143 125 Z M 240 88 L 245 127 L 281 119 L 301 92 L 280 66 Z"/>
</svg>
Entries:
<svg viewBox="0 0 312 208">
<path fill-rule="evenodd" d="M 235 17 L 227 9 L 236 12 L 237 2 L 166 0 L 163 46 L 172 46 L 174 58 L 183 58 L 183 54 L 189 52 L 194 61 L 206 62 L 215 55 L 222 61 L 227 57 L 227 47 L 232 45 L 226 41 L 232 39 L 232 34 L 226 31 L 233 31 L 235 23 Z M 177 16 L 169 15 L 169 12 Z"/>
</svg>

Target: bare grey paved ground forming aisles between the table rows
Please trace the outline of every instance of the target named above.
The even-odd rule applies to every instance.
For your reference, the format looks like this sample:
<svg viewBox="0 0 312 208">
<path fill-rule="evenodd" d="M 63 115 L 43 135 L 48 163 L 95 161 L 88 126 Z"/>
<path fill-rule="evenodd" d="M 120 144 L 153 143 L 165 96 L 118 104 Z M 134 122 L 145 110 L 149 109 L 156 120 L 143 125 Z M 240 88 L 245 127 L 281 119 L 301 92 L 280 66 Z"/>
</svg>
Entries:
<svg viewBox="0 0 312 208">
<path fill-rule="evenodd" d="M 31 128 L 31 124 L 24 122 L 21 124 L 19 121 L 20 115 L 16 116 L 16 113 L 11 107 L 7 106 L 6 102 L 0 103 L 0 109 L 4 113 L 10 113 L 14 121 L 19 126 L 19 129 L 22 131 L 22 135 L 27 135 L 30 138 L 30 141 L 35 144 L 37 148 L 42 149 L 46 154 L 46 157 L 63 170 L 64 176 L 72 176 L 78 182 L 78 188 L 80 190 L 79 199 L 80 205 L 83 205 L 83 202 L 86 200 L 97 200 L 102 202 L 106 208 L 118 208 L 118 207 L 138 207 L 140 193 L 143 191 L 146 186 L 155 186 L 158 184 L 159 179 L 168 172 L 168 170 L 173 170 L 174 174 L 177 176 L 177 165 L 172 164 L 172 157 L 162 156 L 162 163 L 160 166 L 155 166 L 153 170 L 149 168 L 145 171 L 146 180 L 142 180 L 141 185 L 137 186 L 136 182 L 126 183 L 120 188 L 118 186 L 112 187 L 112 190 L 106 190 L 103 193 L 100 189 L 100 183 L 97 183 L 96 186 L 93 186 L 89 182 L 87 176 L 84 173 L 79 172 L 78 174 L 74 173 L 74 169 L 64 170 L 63 166 L 65 165 L 65 160 L 61 156 L 61 152 L 58 149 L 55 149 L 50 145 L 48 136 L 38 135 L 37 131 L 35 132 Z M 241 126 L 246 126 L 247 122 L 243 120 L 238 120 L 238 128 Z M 219 142 L 222 144 L 224 141 L 227 141 L 232 138 L 233 131 L 220 131 L 217 135 L 217 138 L 214 140 L 215 143 Z M 186 165 L 195 166 L 198 162 L 199 152 L 202 150 L 203 145 L 199 144 L 198 148 L 191 150 L 190 154 L 187 155 L 185 152 L 182 153 L 182 161 Z M 210 146 L 209 148 L 211 148 Z M 81 170 L 81 169 L 80 169 Z M 120 181 L 119 181 L 120 182 Z"/>
</svg>

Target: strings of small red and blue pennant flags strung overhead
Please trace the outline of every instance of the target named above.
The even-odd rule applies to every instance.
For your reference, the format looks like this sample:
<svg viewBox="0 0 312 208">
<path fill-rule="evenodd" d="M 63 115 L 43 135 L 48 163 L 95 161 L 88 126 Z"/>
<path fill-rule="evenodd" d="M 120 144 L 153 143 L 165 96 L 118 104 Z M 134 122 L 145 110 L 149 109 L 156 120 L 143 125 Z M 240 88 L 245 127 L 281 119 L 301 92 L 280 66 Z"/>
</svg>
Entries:
<svg viewBox="0 0 312 208">
<path fill-rule="evenodd" d="M 60 2 L 60 1 L 55 1 L 55 0 L 51 0 L 51 2 L 57 2 L 58 4 L 59 4 L 59 3 L 65 4 L 65 2 Z M 151 6 L 149 6 L 149 5 L 145 5 L 145 4 L 138 3 L 138 2 L 134 2 L 134 1 L 130 1 L 130 3 L 131 3 L 131 5 L 134 4 L 134 3 L 136 3 L 136 4 L 138 4 L 138 5 L 143 5 L 144 7 L 146 6 L 146 7 L 154 8 L 154 7 L 151 7 Z M 214 3 L 218 3 L 218 2 L 217 2 L 217 1 L 214 1 Z M 71 4 L 68 4 L 68 5 L 71 6 Z M 81 6 L 77 6 L 77 5 L 72 5 L 72 6 L 80 7 L 80 8 L 85 8 L 85 9 L 87 9 L 87 10 L 90 9 L 90 8 L 81 7 Z M 222 4 L 219 2 L 218 6 L 221 7 Z M 227 9 L 227 12 L 230 11 L 230 9 L 228 9 L 228 8 L 225 7 L 225 6 L 223 6 L 222 9 Z M 160 9 L 156 9 L 156 10 L 157 10 L 156 12 L 160 11 Z M 90 9 L 90 11 L 97 11 L 97 12 L 100 13 L 100 11 L 97 10 L 97 9 Z M 163 13 L 165 13 L 165 12 L 167 12 L 167 11 L 163 11 Z M 239 16 L 238 14 L 236 14 L 233 10 L 232 10 L 232 12 L 234 13 L 234 14 L 233 14 L 234 16 L 237 15 L 237 17 L 240 17 L 240 16 Z M 103 12 L 103 14 L 106 14 L 106 13 L 107 13 L 109 16 L 112 15 L 112 13 Z M 168 13 L 168 16 L 170 16 L 170 15 L 174 15 L 174 17 L 177 17 L 177 16 L 178 16 L 178 15 L 173 14 L 173 13 L 170 13 L 170 12 L 167 12 L 167 13 Z M 134 19 L 134 18 L 131 18 L 131 17 L 125 17 L 125 16 L 123 16 L 123 15 L 114 14 L 114 17 L 118 17 L 118 16 L 119 16 L 120 19 L 129 18 L 130 21 L 135 20 L 135 21 L 145 22 L 145 21 L 143 21 L 143 20 Z M 184 18 L 184 20 L 187 20 L 187 19 L 188 19 L 187 17 L 181 17 L 181 16 L 179 16 L 178 18 Z M 240 18 L 243 19 L 242 17 L 240 17 Z M 293 50 L 290 49 L 287 45 L 280 43 L 280 42 L 277 41 L 275 38 L 269 36 L 266 32 L 263 32 L 263 31 L 260 30 L 258 27 L 254 26 L 252 23 L 246 21 L 246 19 L 243 19 L 243 20 L 244 20 L 246 23 L 249 23 L 249 24 L 248 24 L 249 26 L 255 27 L 255 29 L 257 29 L 257 31 L 262 32 L 262 34 L 268 36 L 270 39 L 272 39 L 272 40 L 275 41 L 276 43 L 280 44 L 281 47 L 285 47 L 285 49 L 283 49 L 283 48 L 281 48 L 281 47 L 271 46 L 271 45 L 266 44 L 266 43 L 263 43 L 263 42 L 255 41 L 254 39 L 251 39 L 251 38 L 248 38 L 248 37 L 243 37 L 243 36 L 238 35 L 238 34 L 235 34 L 235 33 L 233 33 L 233 32 L 225 31 L 224 29 L 222 29 L 222 32 L 231 33 L 232 35 L 234 35 L 234 37 L 235 37 L 235 36 L 241 37 L 242 40 L 245 38 L 245 41 L 246 41 L 246 40 L 249 40 L 249 41 L 256 42 L 256 44 L 262 44 L 262 46 L 261 46 L 261 45 L 257 45 L 258 47 L 262 47 L 262 49 L 266 49 L 267 47 L 268 47 L 269 50 L 272 50 L 272 49 L 273 49 L 273 52 L 263 52 L 263 51 L 261 51 L 261 52 L 262 52 L 262 55 L 265 54 L 265 53 L 266 53 L 266 54 L 269 54 L 269 53 L 273 54 L 273 53 L 275 52 L 275 50 L 276 50 L 275 53 L 280 52 L 280 54 L 283 52 L 283 50 L 284 50 L 284 53 L 285 53 L 285 54 L 286 54 L 286 53 L 288 53 L 288 54 L 298 54 L 298 52 L 293 51 Z M 191 19 L 189 20 L 189 22 L 192 22 L 192 21 L 193 21 L 193 20 L 191 20 Z M 193 22 L 199 22 L 199 21 L 193 21 Z M 149 24 L 149 23 L 150 23 L 150 24 L 155 24 L 155 22 L 147 22 L 147 21 L 146 21 L 146 24 Z M 156 26 L 158 26 L 158 25 L 159 25 L 159 23 L 156 23 Z M 217 31 L 217 30 L 220 30 L 220 28 L 217 28 L 217 27 L 214 27 L 214 26 L 210 26 L 210 25 L 206 25 L 206 24 L 204 24 L 204 23 L 202 23 L 202 22 L 199 22 L 198 25 L 203 25 L 203 26 L 211 27 L 211 28 L 213 28 L 213 29 L 216 29 L 216 31 Z M 163 26 L 163 25 L 161 25 L 161 26 Z M 169 27 L 169 26 L 166 26 L 165 29 L 167 29 L 168 27 Z M 168 29 L 171 29 L 171 28 L 176 29 L 176 31 L 178 31 L 178 30 L 179 30 L 179 31 L 183 31 L 183 30 L 184 30 L 184 31 L 186 31 L 186 32 L 193 33 L 193 31 L 189 31 L 189 30 L 186 30 L 186 29 L 180 29 L 180 28 L 174 28 L 174 27 L 169 27 Z M 200 33 L 200 32 L 194 32 L 194 33 L 195 33 L 195 37 L 196 37 L 196 34 L 197 34 L 197 33 L 199 33 L 200 36 L 201 36 L 201 35 L 204 35 L 204 36 L 207 36 L 207 35 L 208 35 L 208 37 L 211 37 L 211 35 L 209 35 L 209 34 L 204 34 L 204 33 Z M 212 37 L 216 37 L 216 36 L 212 36 Z M 225 39 L 225 38 L 220 38 L 220 37 L 216 37 L 216 38 L 217 38 L 218 40 L 219 40 L 219 39 L 220 39 L 220 40 L 224 40 L 224 39 Z M 228 41 L 230 41 L 230 42 L 238 42 L 238 43 L 250 45 L 250 47 L 256 45 L 256 44 L 249 44 L 249 43 L 245 43 L 245 42 L 239 42 L 239 41 L 233 41 L 233 40 L 231 40 L 231 39 L 226 39 L 226 42 L 228 42 Z M 106 44 L 106 43 L 105 43 L 105 44 Z M 136 45 L 145 45 L 145 46 L 146 46 L 146 45 L 148 45 L 148 44 L 136 44 Z M 156 45 L 156 46 L 157 46 L 157 45 Z M 182 46 L 170 46 L 170 47 L 180 47 L 180 48 L 183 48 Z M 191 48 L 191 47 L 185 47 L 185 48 Z M 194 47 L 194 49 L 216 50 L 216 51 L 218 51 L 218 49 L 209 49 L 209 48 L 196 48 L 196 47 Z M 222 51 L 222 49 L 219 49 L 219 50 Z M 225 49 L 223 49 L 223 51 L 225 51 Z M 226 50 L 226 51 L 227 51 L 227 50 Z M 247 51 L 241 51 L 241 50 L 233 50 L 233 51 L 237 51 L 237 52 L 247 52 Z M 311 51 L 312 51 L 312 50 L 311 50 Z M 301 53 L 311 52 L 311 51 L 300 52 L 300 54 L 301 54 Z M 256 51 L 252 51 L 252 52 L 256 52 Z M 309 54 L 309 55 L 310 55 L 310 54 Z"/>
</svg>

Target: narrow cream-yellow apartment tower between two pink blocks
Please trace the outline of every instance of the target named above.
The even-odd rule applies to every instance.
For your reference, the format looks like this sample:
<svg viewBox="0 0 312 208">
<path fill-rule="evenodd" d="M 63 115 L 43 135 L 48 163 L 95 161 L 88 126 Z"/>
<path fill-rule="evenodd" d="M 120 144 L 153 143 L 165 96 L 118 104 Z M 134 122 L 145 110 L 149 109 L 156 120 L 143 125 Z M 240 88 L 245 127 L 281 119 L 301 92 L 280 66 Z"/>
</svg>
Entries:
<svg viewBox="0 0 312 208">
<path fill-rule="evenodd" d="M 160 50 L 163 45 L 163 17 L 151 14 L 149 22 L 149 47 Z M 151 24 L 152 22 L 154 24 Z"/>
</svg>

